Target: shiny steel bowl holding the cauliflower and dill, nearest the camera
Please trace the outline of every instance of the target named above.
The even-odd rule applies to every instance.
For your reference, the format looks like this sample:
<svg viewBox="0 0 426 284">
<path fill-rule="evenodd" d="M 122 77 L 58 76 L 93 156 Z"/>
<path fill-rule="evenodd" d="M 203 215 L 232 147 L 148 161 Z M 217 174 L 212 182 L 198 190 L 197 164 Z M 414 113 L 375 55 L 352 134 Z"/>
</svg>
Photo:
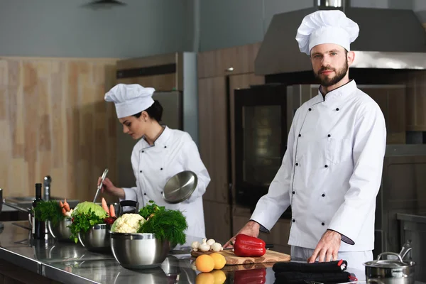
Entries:
<svg viewBox="0 0 426 284">
<path fill-rule="evenodd" d="M 155 239 L 154 234 L 111 232 L 111 250 L 124 268 L 153 268 L 160 266 L 168 256 L 170 241 Z"/>
</svg>

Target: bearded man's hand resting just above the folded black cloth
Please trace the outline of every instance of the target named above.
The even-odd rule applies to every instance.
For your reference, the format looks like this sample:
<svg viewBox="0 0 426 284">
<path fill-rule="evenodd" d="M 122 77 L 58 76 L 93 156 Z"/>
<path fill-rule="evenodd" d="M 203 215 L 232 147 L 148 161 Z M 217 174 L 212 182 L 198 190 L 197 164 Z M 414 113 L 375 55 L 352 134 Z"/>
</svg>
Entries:
<svg viewBox="0 0 426 284">
<path fill-rule="evenodd" d="M 314 253 L 307 258 L 308 263 L 314 263 L 318 258 L 319 262 L 337 261 L 337 253 L 340 249 L 342 235 L 337 231 L 327 230 L 317 244 Z"/>
</svg>

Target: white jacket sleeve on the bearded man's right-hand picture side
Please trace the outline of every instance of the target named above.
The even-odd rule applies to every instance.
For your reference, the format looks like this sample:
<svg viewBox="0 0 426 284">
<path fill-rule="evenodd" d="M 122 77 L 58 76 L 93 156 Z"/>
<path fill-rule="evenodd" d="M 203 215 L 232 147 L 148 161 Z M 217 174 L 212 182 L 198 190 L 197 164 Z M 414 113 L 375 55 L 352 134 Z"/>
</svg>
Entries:
<svg viewBox="0 0 426 284">
<path fill-rule="evenodd" d="M 332 218 L 328 229 L 342 234 L 342 241 L 355 244 L 367 218 L 374 218 L 373 207 L 381 185 L 386 151 L 386 124 L 376 102 L 366 105 L 356 121 L 352 156 L 354 173 L 344 202 Z"/>
</svg>

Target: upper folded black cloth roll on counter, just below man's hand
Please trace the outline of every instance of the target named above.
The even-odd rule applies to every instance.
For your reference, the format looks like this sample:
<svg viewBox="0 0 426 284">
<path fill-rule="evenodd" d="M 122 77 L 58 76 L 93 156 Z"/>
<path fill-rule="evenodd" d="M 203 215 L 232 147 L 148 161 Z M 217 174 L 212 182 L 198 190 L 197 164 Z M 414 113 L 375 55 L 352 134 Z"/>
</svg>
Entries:
<svg viewBox="0 0 426 284">
<path fill-rule="evenodd" d="M 274 272 L 294 271 L 303 273 L 326 273 L 326 272 L 342 272 L 346 270 L 348 263 L 346 261 L 330 261 L 315 263 L 297 263 L 280 261 L 274 263 L 272 270 Z"/>
</svg>

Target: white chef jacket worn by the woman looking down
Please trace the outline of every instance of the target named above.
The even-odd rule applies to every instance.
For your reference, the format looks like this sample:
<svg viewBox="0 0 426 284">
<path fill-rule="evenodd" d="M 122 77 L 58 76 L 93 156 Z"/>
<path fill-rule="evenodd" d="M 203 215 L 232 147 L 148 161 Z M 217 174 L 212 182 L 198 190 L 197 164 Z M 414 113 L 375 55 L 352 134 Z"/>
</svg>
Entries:
<svg viewBox="0 0 426 284">
<path fill-rule="evenodd" d="M 165 126 L 153 146 L 149 146 L 142 138 L 133 147 L 131 165 L 136 177 L 136 187 L 124 188 L 126 200 L 138 201 L 139 208 L 153 200 L 155 204 L 167 209 L 179 209 L 188 223 L 185 234 L 205 237 L 202 195 L 209 185 L 210 177 L 197 145 L 188 133 Z M 165 183 L 183 170 L 192 170 L 197 175 L 197 188 L 187 200 L 169 204 L 162 196 Z"/>
</svg>

